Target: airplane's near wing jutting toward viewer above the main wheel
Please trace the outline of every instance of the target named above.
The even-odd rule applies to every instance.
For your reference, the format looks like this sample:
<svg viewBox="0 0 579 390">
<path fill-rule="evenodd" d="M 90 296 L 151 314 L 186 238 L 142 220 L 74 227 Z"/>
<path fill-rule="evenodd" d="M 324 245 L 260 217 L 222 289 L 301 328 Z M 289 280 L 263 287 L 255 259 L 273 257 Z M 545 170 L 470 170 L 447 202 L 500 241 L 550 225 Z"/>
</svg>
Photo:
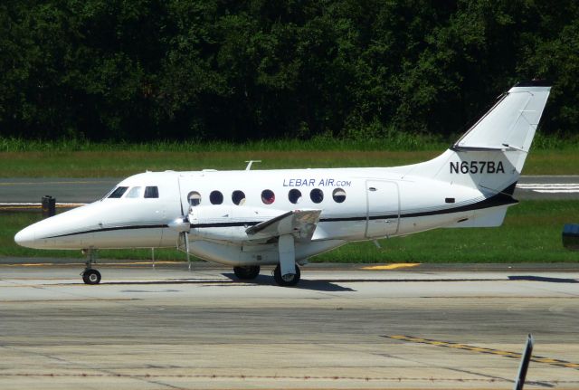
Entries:
<svg viewBox="0 0 579 390">
<path fill-rule="evenodd" d="M 247 228 L 245 233 L 259 239 L 293 234 L 296 241 L 308 241 L 316 230 L 321 212 L 321 210 L 289 211 L 253 225 Z"/>
</svg>

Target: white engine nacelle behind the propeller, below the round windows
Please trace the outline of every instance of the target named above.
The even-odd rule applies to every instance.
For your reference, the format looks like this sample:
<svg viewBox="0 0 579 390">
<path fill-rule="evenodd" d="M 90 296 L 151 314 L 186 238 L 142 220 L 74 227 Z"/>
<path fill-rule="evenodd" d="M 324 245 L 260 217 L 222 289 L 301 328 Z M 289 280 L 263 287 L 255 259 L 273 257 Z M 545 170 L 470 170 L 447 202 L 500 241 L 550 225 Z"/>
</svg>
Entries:
<svg viewBox="0 0 579 390">
<path fill-rule="evenodd" d="M 267 221 L 283 210 L 239 205 L 198 205 L 189 209 L 192 236 L 232 243 L 251 240 L 245 230 Z"/>
</svg>

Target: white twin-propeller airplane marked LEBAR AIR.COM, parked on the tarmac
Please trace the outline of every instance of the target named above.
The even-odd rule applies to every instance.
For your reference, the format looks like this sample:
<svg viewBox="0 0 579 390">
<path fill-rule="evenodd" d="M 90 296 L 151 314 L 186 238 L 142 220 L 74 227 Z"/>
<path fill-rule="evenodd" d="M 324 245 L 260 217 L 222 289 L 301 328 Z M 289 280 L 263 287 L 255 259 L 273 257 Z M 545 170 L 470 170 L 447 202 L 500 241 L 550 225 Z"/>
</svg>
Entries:
<svg viewBox="0 0 579 390">
<path fill-rule="evenodd" d="M 240 280 L 275 266 L 280 286 L 299 282 L 308 258 L 356 241 L 434 228 L 492 227 L 513 192 L 550 86 L 520 82 L 457 142 L 430 161 L 396 167 L 146 172 L 102 199 L 14 236 L 22 246 L 82 250 L 87 284 L 99 249 L 176 247 L 233 266 Z M 190 268 L 189 263 L 189 268 Z"/>
</svg>

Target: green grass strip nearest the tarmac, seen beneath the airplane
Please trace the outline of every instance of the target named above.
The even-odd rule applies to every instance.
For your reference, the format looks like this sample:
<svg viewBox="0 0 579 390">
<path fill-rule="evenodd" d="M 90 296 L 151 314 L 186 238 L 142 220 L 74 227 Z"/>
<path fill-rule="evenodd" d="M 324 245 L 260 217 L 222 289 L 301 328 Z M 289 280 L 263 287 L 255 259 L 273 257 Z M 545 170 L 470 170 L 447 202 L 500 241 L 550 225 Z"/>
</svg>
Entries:
<svg viewBox="0 0 579 390">
<path fill-rule="evenodd" d="M 498 228 L 436 229 L 374 243 L 349 243 L 311 262 L 577 262 L 579 252 L 563 248 L 563 225 L 579 223 L 579 201 L 524 201 L 508 210 Z M 40 251 L 14 243 L 14 234 L 39 220 L 37 213 L 0 214 L 0 256 L 69 257 L 77 251 Z M 185 260 L 172 249 L 156 250 L 157 260 Z M 150 250 L 100 251 L 100 258 L 148 260 Z M 1 261 L 1 259 L 0 259 Z"/>
</svg>

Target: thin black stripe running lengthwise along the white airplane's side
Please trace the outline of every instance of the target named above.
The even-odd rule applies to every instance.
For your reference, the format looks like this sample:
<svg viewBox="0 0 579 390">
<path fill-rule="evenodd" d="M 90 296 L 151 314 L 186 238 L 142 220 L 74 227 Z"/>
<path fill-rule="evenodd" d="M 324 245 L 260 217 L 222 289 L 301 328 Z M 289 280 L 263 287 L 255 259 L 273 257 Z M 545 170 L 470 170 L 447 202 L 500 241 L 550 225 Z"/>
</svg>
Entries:
<svg viewBox="0 0 579 390">
<path fill-rule="evenodd" d="M 510 188 L 510 186 L 508 187 Z M 337 217 L 337 218 L 320 218 L 319 222 L 347 222 L 347 221 L 366 221 L 366 220 L 376 220 L 376 219 L 392 219 L 392 218 L 416 218 L 421 216 L 432 216 L 432 215 L 443 215 L 443 214 L 454 214 L 463 213 L 467 211 L 482 210 L 490 207 L 498 207 L 501 205 L 515 205 L 518 201 L 513 199 L 512 196 L 508 195 L 506 192 L 498 193 L 497 195 L 490 196 L 487 199 L 476 202 L 472 205 L 461 205 L 458 207 L 445 208 L 441 210 L 431 210 L 424 212 L 408 213 L 408 214 L 386 214 L 386 215 L 372 215 L 372 216 L 351 216 L 351 217 Z M 211 227 L 248 227 L 260 224 L 263 221 L 247 221 L 247 222 L 222 222 L 222 223 L 210 223 L 210 224 L 191 224 L 192 229 L 197 228 L 211 228 Z M 112 232 L 119 230 L 137 230 L 137 229 L 159 229 L 169 227 L 167 224 L 154 224 L 154 225 L 132 225 L 132 226 L 118 226 L 118 227 L 103 227 L 100 229 L 92 229 L 84 232 L 67 233 L 60 235 L 53 235 L 48 238 L 60 238 L 67 237 L 71 235 L 87 234 L 87 233 L 100 233 L 100 232 Z M 41 239 L 41 240 L 43 240 Z"/>
</svg>

